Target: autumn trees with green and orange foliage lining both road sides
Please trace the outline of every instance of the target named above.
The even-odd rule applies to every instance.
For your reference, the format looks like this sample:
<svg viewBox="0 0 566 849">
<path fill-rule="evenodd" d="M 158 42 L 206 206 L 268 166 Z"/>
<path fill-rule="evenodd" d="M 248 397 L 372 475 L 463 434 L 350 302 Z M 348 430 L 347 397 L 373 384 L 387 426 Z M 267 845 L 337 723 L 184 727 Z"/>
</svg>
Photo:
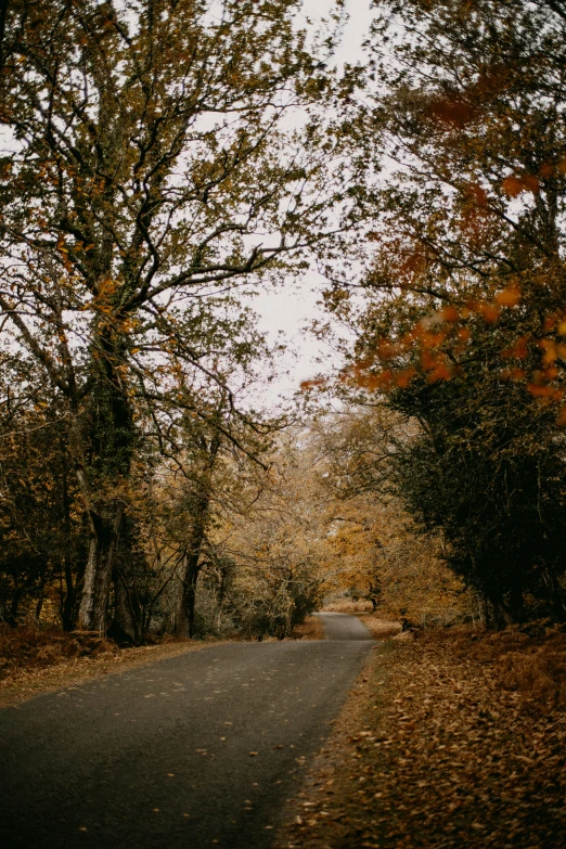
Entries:
<svg viewBox="0 0 566 849">
<path fill-rule="evenodd" d="M 7 621 L 286 634 L 408 566 L 488 623 L 566 616 L 566 10 L 375 0 L 338 69 L 343 4 L 318 41 L 299 12 L 5 7 Z M 242 293 L 314 260 L 355 342 L 268 415 Z"/>
</svg>

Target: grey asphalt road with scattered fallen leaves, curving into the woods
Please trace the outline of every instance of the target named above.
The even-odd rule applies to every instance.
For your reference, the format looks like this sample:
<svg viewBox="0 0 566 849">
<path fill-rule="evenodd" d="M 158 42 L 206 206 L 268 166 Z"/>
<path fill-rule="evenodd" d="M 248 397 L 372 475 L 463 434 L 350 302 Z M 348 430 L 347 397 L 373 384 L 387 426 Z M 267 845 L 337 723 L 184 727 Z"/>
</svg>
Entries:
<svg viewBox="0 0 566 849">
<path fill-rule="evenodd" d="M 267 849 L 374 645 L 349 619 L 352 639 L 323 615 L 325 641 L 211 645 L 3 709 L 0 846 Z"/>
</svg>

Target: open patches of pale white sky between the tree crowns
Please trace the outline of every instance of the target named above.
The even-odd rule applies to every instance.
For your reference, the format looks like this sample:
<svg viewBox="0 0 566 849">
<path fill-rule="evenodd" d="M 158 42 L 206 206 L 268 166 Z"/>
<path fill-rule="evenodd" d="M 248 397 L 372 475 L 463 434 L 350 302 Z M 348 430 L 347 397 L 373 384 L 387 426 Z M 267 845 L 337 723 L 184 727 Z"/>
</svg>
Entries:
<svg viewBox="0 0 566 849">
<path fill-rule="evenodd" d="M 329 7 L 327 0 L 305 0 L 306 12 L 314 20 L 323 15 Z M 338 65 L 361 59 L 360 46 L 370 24 L 369 0 L 347 0 L 346 9 L 349 18 L 335 56 Z M 263 290 L 252 301 L 260 316 L 259 327 L 267 333 L 270 342 L 283 339 L 288 345 L 287 353 L 281 358 L 276 381 L 266 388 L 267 406 L 276 404 L 280 395 L 290 398 L 301 381 L 330 371 L 336 363 L 336 355 L 331 348 L 305 330 L 314 318 L 329 320 L 329 314 L 317 305 L 322 287 L 323 279 L 312 271 L 300 284 L 291 282 L 278 290 Z"/>
</svg>

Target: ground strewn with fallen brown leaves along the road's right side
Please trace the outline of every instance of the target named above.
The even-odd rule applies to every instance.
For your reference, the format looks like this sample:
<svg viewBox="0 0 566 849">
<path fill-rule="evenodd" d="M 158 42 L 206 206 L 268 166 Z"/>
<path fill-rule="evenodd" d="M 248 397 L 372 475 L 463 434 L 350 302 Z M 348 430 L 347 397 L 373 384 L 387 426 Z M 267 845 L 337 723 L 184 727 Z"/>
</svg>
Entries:
<svg viewBox="0 0 566 849">
<path fill-rule="evenodd" d="M 565 709 L 566 634 L 544 623 L 383 642 L 276 849 L 566 846 Z"/>
</svg>

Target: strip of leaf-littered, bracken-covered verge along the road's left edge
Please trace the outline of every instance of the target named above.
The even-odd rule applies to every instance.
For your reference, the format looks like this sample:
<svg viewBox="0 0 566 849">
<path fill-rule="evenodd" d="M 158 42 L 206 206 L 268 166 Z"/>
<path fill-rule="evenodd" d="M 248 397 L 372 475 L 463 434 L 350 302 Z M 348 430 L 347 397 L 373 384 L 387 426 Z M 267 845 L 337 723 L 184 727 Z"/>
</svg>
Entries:
<svg viewBox="0 0 566 849">
<path fill-rule="evenodd" d="M 108 672 L 242 639 L 240 634 L 206 640 L 165 636 L 153 645 L 121 647 L 97 634 L 64 633 L 57 628 L 36 626 L 0 626 L 0 708 Z M 324 639 L 319 619 L 308 617 L 295 628 L 291 639 Z"/>
</svg>

